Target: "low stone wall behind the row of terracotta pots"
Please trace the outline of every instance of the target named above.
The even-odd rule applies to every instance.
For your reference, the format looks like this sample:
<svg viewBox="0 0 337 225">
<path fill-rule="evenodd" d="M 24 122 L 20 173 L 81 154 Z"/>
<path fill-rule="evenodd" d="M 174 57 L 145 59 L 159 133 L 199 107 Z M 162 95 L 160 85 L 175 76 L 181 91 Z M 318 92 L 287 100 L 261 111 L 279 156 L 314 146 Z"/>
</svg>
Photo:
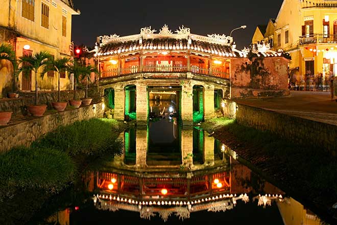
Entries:
<svg viewBox="0 0 337 225">
<path fill-rule="evenodd" d="M 84 91 L 77 91 L 78 98 L 84 97 Z M 0 111 L 13 111 L 12 117 L 27 116 L 27 105 L 34 104 L 34 92 L 20 92 L 19 98 L 16 99 L 0 99 Z M 69 99 L 74 98 L 74 91 L 62 91 L 61 101 L 67 102 Z M 57 101 L 57 92 L 40 92 L 39 103 L 46 104 L 50 109 L 52 102 Z"/>
</svg>

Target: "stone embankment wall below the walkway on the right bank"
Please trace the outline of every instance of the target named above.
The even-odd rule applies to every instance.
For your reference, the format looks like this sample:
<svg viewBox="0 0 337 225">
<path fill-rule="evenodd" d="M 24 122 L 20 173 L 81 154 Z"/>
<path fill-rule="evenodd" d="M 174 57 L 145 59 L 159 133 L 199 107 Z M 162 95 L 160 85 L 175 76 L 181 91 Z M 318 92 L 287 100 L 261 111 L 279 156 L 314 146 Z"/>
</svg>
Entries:
<svg viewBox="0 0 337 225">
<path fill-rule="evenodd" d="M 269 130 L 281 138 L 337 155 L 337 126 L 226 101 L 224 114 L 244 126 Z"/>
</svg>

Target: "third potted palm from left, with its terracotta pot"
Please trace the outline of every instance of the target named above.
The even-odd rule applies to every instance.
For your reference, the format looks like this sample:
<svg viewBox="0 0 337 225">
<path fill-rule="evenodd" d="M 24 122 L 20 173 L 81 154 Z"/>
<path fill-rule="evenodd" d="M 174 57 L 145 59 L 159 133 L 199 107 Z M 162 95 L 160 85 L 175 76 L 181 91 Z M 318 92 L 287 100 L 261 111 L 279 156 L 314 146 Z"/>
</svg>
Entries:
<svg viewBox="0 0 337 225">
<path fill-rule="evenodd" d="M 57 102 L 52 102 L 53 108 L 55 108 L 57 111 L 64 111 L 65 107 L 67 106 L 67 102 L 61 102 L 60 73 L 65 72 L 68 62 L 69 59 L 66 57 L 57 60 L 48 60 L 42 72 L 42 74 L 45 74 L 48 71 L 55 71 L 58 74 Z"/>
</svg>

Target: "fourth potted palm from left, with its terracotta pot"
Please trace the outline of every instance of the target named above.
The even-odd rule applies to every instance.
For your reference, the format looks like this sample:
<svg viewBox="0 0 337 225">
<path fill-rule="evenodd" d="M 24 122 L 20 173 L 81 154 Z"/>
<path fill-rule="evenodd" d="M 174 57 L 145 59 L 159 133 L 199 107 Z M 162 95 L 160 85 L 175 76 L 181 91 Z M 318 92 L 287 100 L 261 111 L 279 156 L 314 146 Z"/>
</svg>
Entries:
<svg viewBox="0 0 337 225">
<path fill-rule="evenodd" d="M 74 76 L 74 99 L 69 100 L 71 106 L 78 108 L 80 107 L 82 100 L 77 98 L 76 89 L 77 89 L 77 82 L 82 73 L 85 72 L 85 67 L 76 59 L 74 59 L 68 66 L 67 66 L 68 76 L 70 79 L 71 74 Z"/>
</svg>

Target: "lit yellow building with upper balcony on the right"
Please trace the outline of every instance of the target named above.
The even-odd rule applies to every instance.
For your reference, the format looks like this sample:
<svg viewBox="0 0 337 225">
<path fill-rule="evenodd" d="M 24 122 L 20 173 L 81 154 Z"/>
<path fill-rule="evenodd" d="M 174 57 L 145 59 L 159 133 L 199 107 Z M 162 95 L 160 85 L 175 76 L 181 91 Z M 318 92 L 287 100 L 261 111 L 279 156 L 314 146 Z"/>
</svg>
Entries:
<svg viewBox="0 0 337 225">
<path fill-rule="evenodd" d="M 322 73 L 325 84 L 329 74 L 337 75 L 336 10 L 337 1 L 283 1 L 274 23 L 273 49 L 291 55 L 289 71 L 298 85 L 304 85 L 305 74 L 312 83 Z M 270 38 L 266 32 L 263 40 Z"/>
</svg>

